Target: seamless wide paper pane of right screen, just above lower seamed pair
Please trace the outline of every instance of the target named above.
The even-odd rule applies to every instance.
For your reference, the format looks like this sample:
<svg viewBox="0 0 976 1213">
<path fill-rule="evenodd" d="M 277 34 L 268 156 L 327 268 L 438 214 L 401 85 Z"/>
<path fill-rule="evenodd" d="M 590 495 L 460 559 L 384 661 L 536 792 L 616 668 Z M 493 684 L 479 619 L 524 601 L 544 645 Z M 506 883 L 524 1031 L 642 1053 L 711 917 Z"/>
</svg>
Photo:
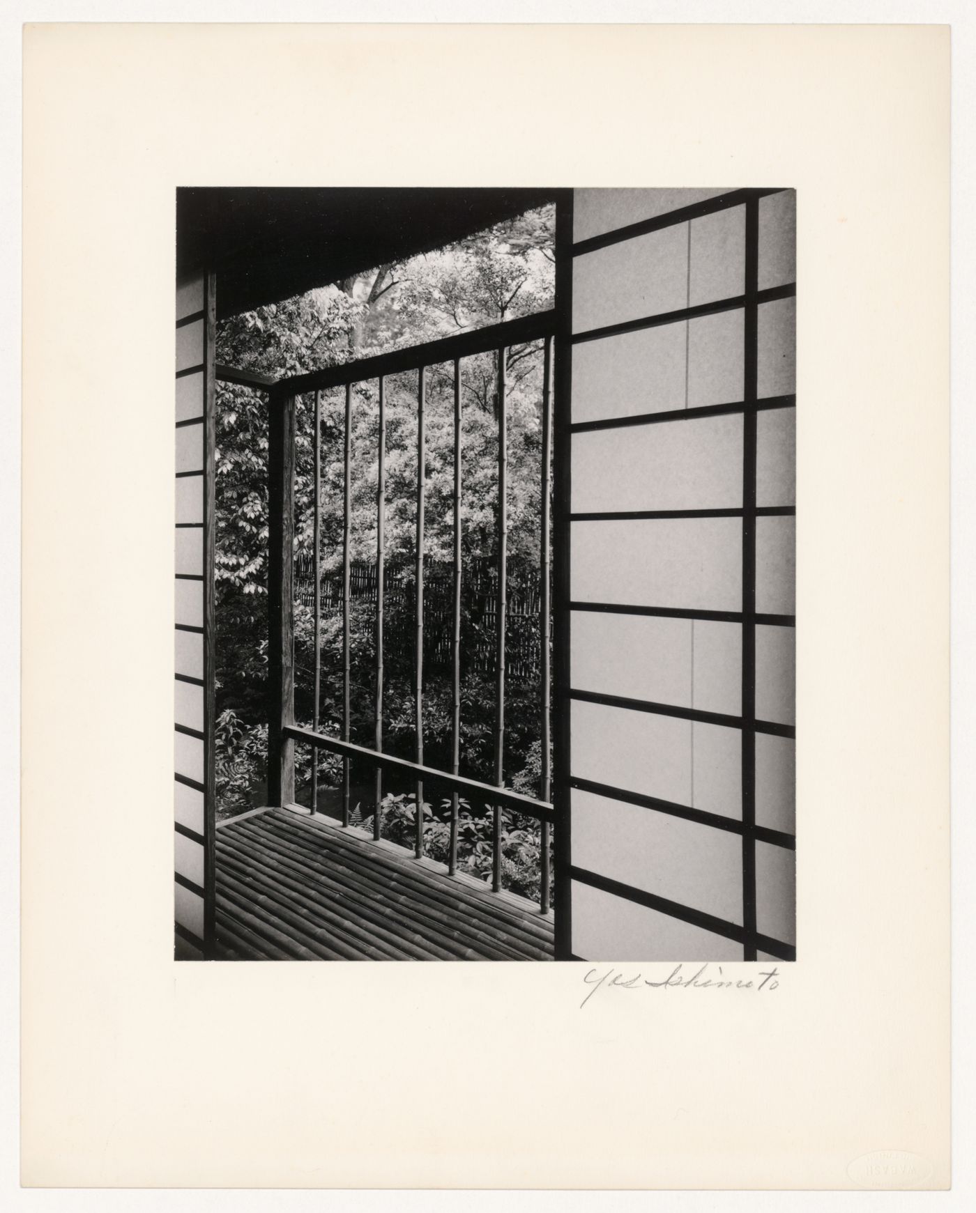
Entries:
<svg viewBox="0 0 976 1213">
<path fill-rule="evenodd" d="M 574 599 L 700 610 L 742 608 L 738 518 L 572 523 L 569 534 Z"/>
</svg>

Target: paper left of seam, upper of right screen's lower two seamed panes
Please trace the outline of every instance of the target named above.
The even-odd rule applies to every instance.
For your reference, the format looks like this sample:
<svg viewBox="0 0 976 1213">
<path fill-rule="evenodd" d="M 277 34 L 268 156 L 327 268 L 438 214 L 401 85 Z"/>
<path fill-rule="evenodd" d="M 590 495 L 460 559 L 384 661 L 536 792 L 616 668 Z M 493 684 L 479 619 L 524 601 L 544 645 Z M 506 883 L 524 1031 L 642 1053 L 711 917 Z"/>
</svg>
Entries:
<svg viewBox="0 0 976 1213">
<path fill-rule="evenodd" d="M 692 626 L 687 619 L 575 611 L 571 682 L 578 690 L 690 707 Z"/>
</svg>

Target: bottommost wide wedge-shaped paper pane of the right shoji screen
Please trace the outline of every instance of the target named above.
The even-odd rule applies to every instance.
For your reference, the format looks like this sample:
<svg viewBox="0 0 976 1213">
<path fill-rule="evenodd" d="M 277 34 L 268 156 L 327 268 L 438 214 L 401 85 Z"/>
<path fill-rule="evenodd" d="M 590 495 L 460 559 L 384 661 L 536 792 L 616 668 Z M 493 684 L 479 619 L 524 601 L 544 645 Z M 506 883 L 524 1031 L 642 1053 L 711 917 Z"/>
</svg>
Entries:
<svg viewBox="0 0 976 1213">
<path fill-rule="evenodd" d="M 742 959 L 742 944 L 589 884 L 573 881 L 572 901 L 572 950 L 585 961 Z"/>
</svg>

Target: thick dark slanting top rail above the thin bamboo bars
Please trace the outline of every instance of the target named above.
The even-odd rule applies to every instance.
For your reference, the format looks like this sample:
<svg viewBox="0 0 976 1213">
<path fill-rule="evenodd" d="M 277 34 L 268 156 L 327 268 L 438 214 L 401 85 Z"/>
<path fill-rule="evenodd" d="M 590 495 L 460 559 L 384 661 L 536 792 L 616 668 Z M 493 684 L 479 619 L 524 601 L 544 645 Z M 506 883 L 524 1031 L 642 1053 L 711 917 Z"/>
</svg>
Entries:
<svg viewBox="0 0 976 1213">
<path fill-rule="evenodd" d="M 288 395 L 301 395 L 303 392 L 322 391 L 330 387 L 345 387 L 346 383 L 363 383 L 379 378 L 381 375 L 398 375 L 403 371 L 415 371 L 420 366 L 436 366 L 455 358 L 470 358 L 473 354 L 496 352 L 501 347 L 521 346 L 527 341 L 541 341 L 556 330 L 556 313 L 534 312 L 515 320 L 490 324 L 483 329 L 471 329 L 467 332 L 452 334 L 437 341 L 426 341 L 407 349 L 391 349 L 373 358 L 359 358 L 341 366 L 323 366 L 307 375 L 295 375 L 282 378 L 274 385 L 276 392 Z M 220 378 L 220 368 L 217 368 Z"/>
</svg>

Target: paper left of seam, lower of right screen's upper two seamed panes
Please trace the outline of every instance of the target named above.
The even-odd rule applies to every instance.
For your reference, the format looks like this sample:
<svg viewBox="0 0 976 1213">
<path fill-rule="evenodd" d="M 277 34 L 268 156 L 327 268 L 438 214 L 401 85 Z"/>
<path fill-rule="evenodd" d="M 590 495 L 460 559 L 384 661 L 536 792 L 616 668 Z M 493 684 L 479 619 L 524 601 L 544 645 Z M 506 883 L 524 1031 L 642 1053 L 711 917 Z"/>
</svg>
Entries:
<svg viewBox="0 0 976 1213">
<path fill-rule="evenodd" d="M 573 346 L 573 421 L 685 408 L 687 324 Z"/>
</svg>

